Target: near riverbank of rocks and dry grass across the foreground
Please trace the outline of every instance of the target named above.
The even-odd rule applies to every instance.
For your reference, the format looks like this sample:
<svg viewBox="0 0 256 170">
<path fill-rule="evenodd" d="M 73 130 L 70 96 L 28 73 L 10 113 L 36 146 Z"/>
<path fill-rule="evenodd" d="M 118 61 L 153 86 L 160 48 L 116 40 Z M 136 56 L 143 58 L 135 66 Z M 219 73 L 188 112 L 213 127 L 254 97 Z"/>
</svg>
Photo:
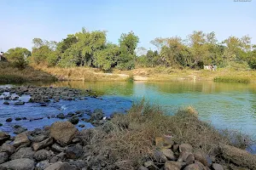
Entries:
<svg viewBox="0 0 256 170">
<path fill-rule="evenodd" d="M 0 167 L 14 169 L 254 169 L 256 156 L 243 150 L 249 140 L 239 133 L 219 133 L 189 107 L 166 116 L 144 101 L 127 114 L 103 118 L 90 113 L 94 128 L 78 131 L 68 122 L 1 134 Z M 85 113 L 87 114 L 87 113 Z M 64 115 L 63 115 L 64 116 Z M 61 119 L 61 117 L 60 117 Z M 79 120 L 81 121 L 81 120 Z M 241 148 L 241 149 L 238 149 Z"/>
</svg>

